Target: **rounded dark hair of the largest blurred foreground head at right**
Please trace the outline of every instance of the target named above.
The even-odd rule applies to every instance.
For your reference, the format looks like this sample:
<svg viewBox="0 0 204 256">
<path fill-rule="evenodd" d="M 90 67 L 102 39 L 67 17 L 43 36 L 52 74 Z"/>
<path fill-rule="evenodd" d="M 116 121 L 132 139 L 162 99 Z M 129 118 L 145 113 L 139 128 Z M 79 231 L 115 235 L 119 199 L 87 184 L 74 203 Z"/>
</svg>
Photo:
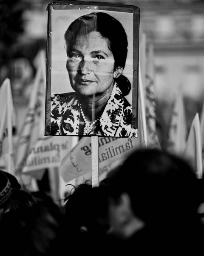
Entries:
<svg viewBox="0 0 204 256">
<path fill-rule="evenodd" d="M 200 203 L 197 179 L 180 157 L 156 149 L 138 150 L 125 160 L 110 183 L 116 201 L 130 196 L 133 212 L 143 221 L 160 223 L 196 215 Z"/>
</svg>

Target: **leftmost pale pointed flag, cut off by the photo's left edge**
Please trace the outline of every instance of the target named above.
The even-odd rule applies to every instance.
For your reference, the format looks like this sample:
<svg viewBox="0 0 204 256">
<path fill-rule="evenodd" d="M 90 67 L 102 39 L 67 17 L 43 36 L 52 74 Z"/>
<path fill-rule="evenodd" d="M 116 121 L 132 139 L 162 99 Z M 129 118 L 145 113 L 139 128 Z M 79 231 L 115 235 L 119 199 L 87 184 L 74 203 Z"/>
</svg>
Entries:
<svg viewBox="0 0 204 256">
<path fill-rule="evenodd" d="M 10 79 L 0 87 L 0 166 L 14 174 L 14 144 L 17 138 L 17 118 L 14 111 Z"/>
</svg>

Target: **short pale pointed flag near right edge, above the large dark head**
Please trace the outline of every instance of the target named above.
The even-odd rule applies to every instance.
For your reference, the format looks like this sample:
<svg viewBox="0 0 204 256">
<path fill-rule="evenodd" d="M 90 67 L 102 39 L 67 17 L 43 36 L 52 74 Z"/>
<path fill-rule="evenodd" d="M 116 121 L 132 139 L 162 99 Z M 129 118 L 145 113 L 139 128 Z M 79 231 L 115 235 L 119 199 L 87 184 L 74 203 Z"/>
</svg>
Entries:
<svg viewBox="0 0 204 256">
<path fill-rule="evenodd" d="M 202 146 L 201 146 L 201 127 L 198 113 L 195 114 L 184 149 L 184 157 L 190 160 L 199 179 L 202 178 Z"/>
</svg>

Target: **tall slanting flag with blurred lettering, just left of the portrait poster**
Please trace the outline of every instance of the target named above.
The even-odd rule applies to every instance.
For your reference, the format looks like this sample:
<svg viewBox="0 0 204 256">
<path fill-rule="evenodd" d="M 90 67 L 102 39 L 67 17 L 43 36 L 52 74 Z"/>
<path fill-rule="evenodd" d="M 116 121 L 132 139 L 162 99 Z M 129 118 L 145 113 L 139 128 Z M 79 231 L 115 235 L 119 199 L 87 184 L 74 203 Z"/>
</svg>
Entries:
<svg viewBox="0 0 204 256">
<path fill-rule="evenodd" d="M 20 130 L 19 139 L 17 142 L 17 150 L 15 155 L 15 171 L 14 174 L 19 178 L 28 190 L 37 189 L 37 185 L 32 189 L 32 184 L 36 183 L 31 176 L 22 175 L 25 161 L 28 157 L 30 148 L 39 138 L 44 130 L 43 120 L 45 113 L 42 111 L 42 106 L 45 104 L 45 55 L 40 52 L 40 63 L 37 68 L 37 73 L 34 78 L 34 84 L 30 94 L 28 111 L 25 121 Z M 43 173 L 41 173 L 42 175 Z M 36 183 L 37 184 L 37 183 Z M 31 185 L 31 186 L 30 186 Z"/>
</svg>

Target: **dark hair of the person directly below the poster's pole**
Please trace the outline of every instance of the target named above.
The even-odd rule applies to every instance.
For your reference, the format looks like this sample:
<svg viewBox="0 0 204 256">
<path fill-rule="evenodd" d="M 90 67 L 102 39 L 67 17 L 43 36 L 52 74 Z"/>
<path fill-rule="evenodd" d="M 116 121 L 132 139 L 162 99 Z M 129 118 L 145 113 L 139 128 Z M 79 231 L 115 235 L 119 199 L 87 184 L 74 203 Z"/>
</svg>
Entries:
<svg viewBox="0 0 204 256">
<path fill-rule="evenodd" d="M 107 212 L 102 190 L 82 183 L 65 198 L 65 217 L 73 233 L 105 233 L 109 226 L 104 222 Z"/>
</svg>

